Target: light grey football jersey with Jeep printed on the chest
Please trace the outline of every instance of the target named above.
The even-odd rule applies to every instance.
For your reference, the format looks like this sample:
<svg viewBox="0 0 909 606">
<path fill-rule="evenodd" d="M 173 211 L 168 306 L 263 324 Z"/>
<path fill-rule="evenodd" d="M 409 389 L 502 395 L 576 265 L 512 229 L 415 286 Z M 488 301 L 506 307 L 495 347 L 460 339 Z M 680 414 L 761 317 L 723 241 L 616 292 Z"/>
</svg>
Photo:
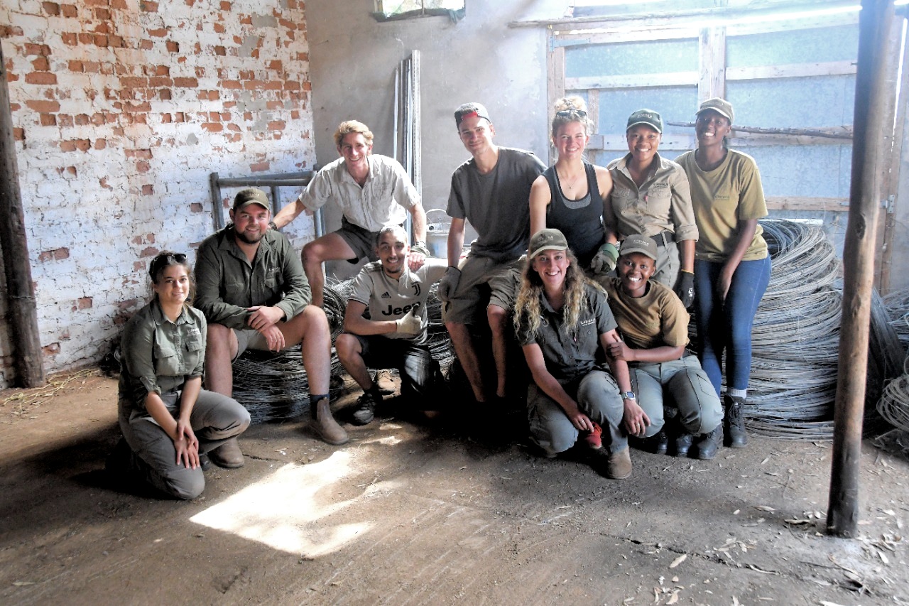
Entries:
<svg viewBox="0 0 909 606">
<path fill-rule="evenodd" d="M 411 271 L 405 268 L 400 279 L 391 278 L 382 271 L 382 263 L 373 261 L 360 269 L 354 278 L 354 293 L 350 300 L 363 303 L 373 320 L 396 320 L 404 318 L 414 307 L 420 304 L 417 312 L 421 321 L 417 335 L 405 335 L 392 332 L 378 335 L 385 338 L 409 338 L 415 345 L 423 345 L 429 339 L 426 327 L 429 319 L 426 315 L 426 298 L 429 287 L 442 278 L 448 268 L 448 261 L 442 258 L 427 258 L 424 266 Z"/>
</svg>

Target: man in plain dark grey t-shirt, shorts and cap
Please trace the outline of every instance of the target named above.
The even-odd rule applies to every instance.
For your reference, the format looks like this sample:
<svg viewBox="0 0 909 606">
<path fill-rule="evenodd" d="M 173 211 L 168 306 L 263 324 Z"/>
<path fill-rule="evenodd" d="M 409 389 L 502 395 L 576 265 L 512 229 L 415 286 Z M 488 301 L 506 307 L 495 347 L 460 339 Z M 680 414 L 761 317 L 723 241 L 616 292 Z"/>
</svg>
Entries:
<svg viewBox="0 0 909 606">
<path fill-rule="evenodd" d="M 516 268 L 527 249 L 530 232 L 530 187 L 545 169 L 531 152 L 496 146 L 489 112 L 479 103 L 467 103 L 454 112 L 454 123 L 464 147 L 473 156 L 452 175 L 448 214 L 448 269 L 439 283 L 445 301 L 442 317 L 454 351 L 470 381 L 474 399 L 485 402 L 505 396 L 505 335 L 508 311 L 517 295 Z M 479 237 L 470 254 L 461 259 L 464 224 Z M 468 325 L 483 321 L 483 290 L 492 290 L 485 306 L 493 334 L 495 391 L 487 389 Z"/>
</svg>

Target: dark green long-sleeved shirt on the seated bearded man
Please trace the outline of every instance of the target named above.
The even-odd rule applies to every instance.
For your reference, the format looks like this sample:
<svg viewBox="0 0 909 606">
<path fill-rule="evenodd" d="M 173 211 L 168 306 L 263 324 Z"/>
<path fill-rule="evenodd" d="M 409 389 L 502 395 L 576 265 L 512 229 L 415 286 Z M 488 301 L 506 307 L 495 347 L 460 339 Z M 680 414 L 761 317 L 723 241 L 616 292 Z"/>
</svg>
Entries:
<svg viewBox="0 0 909 606">
<path fill-rule="evenodd" d="M 280 308 L 289 320 L 312 300 L 300 256 L 284 234 L 267 230 L 250 263 L 236 245 L 233 223 L 199 246 L 195 288 L 195 307 L 227 328 L 249 328 L 246 308 L 255 305 Z"/>
</svg>

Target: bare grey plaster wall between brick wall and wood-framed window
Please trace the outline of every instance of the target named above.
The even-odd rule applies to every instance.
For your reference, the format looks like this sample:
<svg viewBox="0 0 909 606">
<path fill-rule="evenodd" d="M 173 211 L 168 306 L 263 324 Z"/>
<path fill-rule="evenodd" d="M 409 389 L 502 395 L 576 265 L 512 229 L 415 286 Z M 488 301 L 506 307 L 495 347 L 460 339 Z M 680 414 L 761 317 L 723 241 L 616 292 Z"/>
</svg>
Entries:
<svg viewBox="0 0 909 606">
<path fill-rule="evenodd" d="M 338 157 L 332 135 L 346 119 L 375 134 L 373 152 L 394 155 L 395 67 L 418 50 L 422 80 L 423 204 L 447 207 L 451 174 L 469 159 L 454 126 L 454 108 L 479 101 L 489 110 L 495 141 L 547 157 L 546 39 L 543 28 L 510 22 L 561 15 L 564 2 L 468 0 L 457 23 L 424 17 L 377 23 L 373 0 L 309 0 L 315 151 L 320 166 Z M 329 230 L 340 213 L 326 207 Z M 438 220 L 438 215 L 431 217 Z M 348 263 L 329 264 L 338 277 Z"/>
</svg>

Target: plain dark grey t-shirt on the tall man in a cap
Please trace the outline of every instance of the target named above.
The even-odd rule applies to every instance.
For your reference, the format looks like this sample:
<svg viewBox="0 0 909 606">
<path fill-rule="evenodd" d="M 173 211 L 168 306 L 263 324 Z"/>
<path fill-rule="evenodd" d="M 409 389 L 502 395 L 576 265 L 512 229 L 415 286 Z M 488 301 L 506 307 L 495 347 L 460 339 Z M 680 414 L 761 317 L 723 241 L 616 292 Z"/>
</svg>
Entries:
<svg viewBox="0 0 909 606">
<path fill-rule="evenodd" d="M 479 235 L 470 253 L 505 263 L 527 249 L 530 237 L 530 187 L 545 170 L 532 152 L 499 147 L 499 161 L 486 175 L 474 158 L 454 170 L 448 215 L 465 218 Z"/>
</svg>

